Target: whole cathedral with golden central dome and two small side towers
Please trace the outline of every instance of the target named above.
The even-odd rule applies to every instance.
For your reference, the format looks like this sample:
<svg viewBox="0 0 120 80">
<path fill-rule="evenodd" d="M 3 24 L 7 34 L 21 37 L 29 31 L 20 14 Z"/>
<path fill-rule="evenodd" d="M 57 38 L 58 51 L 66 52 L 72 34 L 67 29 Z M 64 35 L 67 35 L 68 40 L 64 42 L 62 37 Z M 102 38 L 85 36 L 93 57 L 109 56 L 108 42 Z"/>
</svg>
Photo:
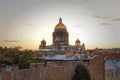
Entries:
<svg viewBox="0 0 120 80">
<path fill-rule="evenodd" d="M 61 18 L 59 19 L 59 23 L 55 26 L 52 36 L 52 45 L 47 46 L 47 42 L 43 39 L 39 45 L 40 51 L 52 51 L 58 54 L 64 54 L 66 52 L 80 53 L 81 51 L 85 51 L 85 45 L 84 43 L 81 45 L 79 39 L 75 41 L 75 45 L 69 45 L 69 33 Z"/>
</svg>

